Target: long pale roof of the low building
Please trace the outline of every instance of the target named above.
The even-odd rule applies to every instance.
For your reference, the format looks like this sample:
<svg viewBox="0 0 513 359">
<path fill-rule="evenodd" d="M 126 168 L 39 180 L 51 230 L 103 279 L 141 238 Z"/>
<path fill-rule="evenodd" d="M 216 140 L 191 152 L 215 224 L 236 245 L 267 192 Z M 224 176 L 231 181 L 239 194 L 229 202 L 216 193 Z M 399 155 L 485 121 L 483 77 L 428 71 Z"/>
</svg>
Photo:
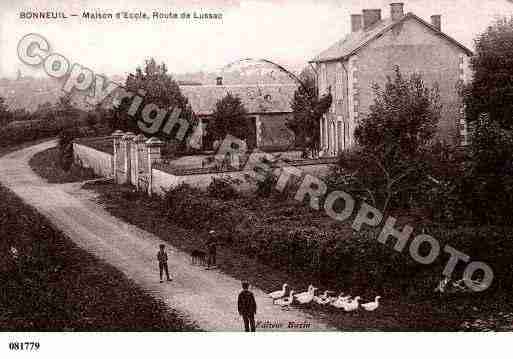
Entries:
<svg viewBox="0 0 513 359">
<path fill-rule="evenodd" d="M 231 93 L 238 96 L 248 113 L 291 112 L 290 104 L 298 85 L 203 85 L 180 86 L 197 115 L 210 115 L 216 102 Z"/>
</svg>

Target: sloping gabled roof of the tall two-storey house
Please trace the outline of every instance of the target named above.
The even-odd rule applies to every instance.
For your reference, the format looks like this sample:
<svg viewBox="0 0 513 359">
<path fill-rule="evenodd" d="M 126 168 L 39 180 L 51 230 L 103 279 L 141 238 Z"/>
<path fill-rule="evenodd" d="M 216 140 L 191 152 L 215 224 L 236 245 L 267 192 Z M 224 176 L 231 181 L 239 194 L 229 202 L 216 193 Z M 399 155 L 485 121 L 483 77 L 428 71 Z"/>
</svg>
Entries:
<svg viewBox="0 0 513 359">
<path fill-rule="evenodd" d="M 371 41 L 376 39 L 378 36 L 382 35 L 383 33 L 387 32 L 388 30 L 392 29 L 395 25 L 403 23 L 404 21 L 406 21 L 408 19 L 417 20 L 424 26 L 426 26 L 429 29 L 431 29 L 432 31 L 434 31 L 438 36 L 446 39 L 447 41 L 451 42 L 453 45 L 461 48 L 469 56 L 472 56 L 472 51 L 469 50 L 467 47 L 463 46 L 458 41 L 456 41 L 455 39 L 450 37 L 449 35 L 439 31 L 436 27 L 434 27 L 430 23 L 422 20 L 417 15 L 410 12 L 396 21 L 393 21 L 391 18 L 382 19 L 382 20 L 378 21 L 376 24 L 372 25 L 367 30 L 362 29 L 360 31 L 351 33 L 351 34 L 347 35 L 345 38 L 343 38 L 342 40 L 333 44 L 327 50 L 321 52 L 310 62 L 335 61 L 335 60 L 344 59 L 351 55 L 354 55 L 360 49 L 362 49 L 367 44 L 369 44 Z"/>
</svg>

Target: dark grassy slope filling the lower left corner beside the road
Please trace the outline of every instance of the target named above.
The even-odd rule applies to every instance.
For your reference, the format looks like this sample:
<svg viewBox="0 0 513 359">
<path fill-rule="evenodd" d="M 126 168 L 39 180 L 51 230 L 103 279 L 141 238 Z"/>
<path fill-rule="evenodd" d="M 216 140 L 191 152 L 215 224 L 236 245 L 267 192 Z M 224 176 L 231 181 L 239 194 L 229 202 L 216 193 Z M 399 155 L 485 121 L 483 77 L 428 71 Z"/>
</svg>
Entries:
<svg viewBox="0 0 513 359">
<path fill-rule="evenodd" d="M 196 330 L 1 186 L 0 198 L 0 330 Z"/>
</svg>

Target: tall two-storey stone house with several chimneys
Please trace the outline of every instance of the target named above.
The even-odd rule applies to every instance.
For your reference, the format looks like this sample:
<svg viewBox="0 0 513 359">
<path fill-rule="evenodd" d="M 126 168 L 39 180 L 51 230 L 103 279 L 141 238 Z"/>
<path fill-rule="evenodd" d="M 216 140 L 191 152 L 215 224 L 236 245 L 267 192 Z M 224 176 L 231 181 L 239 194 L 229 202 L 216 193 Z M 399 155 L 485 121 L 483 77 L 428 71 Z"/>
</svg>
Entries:
<svg viewBox="0 0 513 359">
<path fill-rule="evenodd" d="M 470 80 L 472 52 L 445 34 L 441 15 L 428 23 L 404 13 L 403 3 L 351 15 L 351 33 L 310 61 L 321 94 L 331 88 L 332 107 L 321 123 L 321 148 L 337 155 L 354 144 L 355 125 L 374 101 L 373 84 L 383 85 L 399 66 L 403 75 L 420 73 L 428 86 L 438 86 L 441 139 L 465 144 L 466 123 L 458 87 Z"/>
</svg>

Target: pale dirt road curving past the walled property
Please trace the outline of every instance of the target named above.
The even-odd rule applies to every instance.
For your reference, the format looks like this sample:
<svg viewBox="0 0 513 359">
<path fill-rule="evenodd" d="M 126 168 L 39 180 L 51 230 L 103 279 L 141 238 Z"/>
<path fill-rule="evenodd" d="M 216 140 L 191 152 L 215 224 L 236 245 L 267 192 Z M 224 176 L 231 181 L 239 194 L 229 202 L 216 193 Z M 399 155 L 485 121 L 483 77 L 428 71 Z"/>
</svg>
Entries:
<svg viewBox="0 0 513 359">
<path fill-rule="evenodd" d="M 111 216 L 94 201 L 94 193 L 81 188 L 81 183 L 48 184 L 37 176 L 28 160 L 55 144 L 55 141 L 44 142 L 1 157 L 0 182 L 35 207 L 78 246 L 114 265 L 200 328 L 241 330 L 236 310 L 238 280 L 215 270 L 192 266 L 187 254 L 166 243 L 174 280 L 159 283 L 155 257 L 163 241 Z M 326 324 L 300 310 L 284 311 L 272 305 L 258 288 L 253 288 L 253 292 L 258 306 L 257 321 L 281 325 L 272 330 L 290 330 L 290 322 L 309 324 L 307 328 L 294 330 L 329 330 Z"/>
</svg>

